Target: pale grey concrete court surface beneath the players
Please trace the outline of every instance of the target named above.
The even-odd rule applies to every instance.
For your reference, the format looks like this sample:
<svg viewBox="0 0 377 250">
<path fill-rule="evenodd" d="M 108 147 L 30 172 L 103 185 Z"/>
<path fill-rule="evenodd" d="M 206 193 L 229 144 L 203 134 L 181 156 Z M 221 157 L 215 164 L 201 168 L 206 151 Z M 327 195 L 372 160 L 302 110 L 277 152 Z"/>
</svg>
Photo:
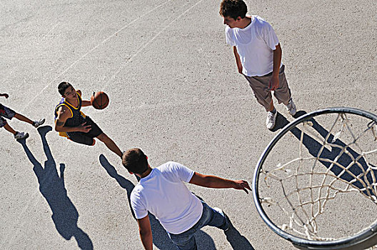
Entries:
<svg viewBox="0 0 377 250">
<path fill-rule="evenodd" d="M 269 21 L 298 110 L 352 106 L 377 113 L 377 2 L 246 1 Z M 56 86 L 109 107 L 83 111 L 121 149 L 138 146 L 152 166 L 178 161 L 204 174 L 246 179 L 276 131 L 226 45 L 220 1 L 1 0 L 1 103 L 46 118 L 26 144 L 1 129 L 0 249 L 142 249 L 127 193 L 137 183 L 100 141 L 81 146 L 55 131 Z M 276 105 L 283 121 L 292 121 Z M 284 119 L 284 118 L 285 119 Z M 43 141 L 42 141 L 43 140 Z M 292 149 L 297 150 L 297 149 Z M 228 237 L 203 228 L 199 249 L 294 249 L 264 224 L 251 194 L 189 185 L 226 211 Z M 156 219 L 154 249 L 174 249 Z"/>
</svg>

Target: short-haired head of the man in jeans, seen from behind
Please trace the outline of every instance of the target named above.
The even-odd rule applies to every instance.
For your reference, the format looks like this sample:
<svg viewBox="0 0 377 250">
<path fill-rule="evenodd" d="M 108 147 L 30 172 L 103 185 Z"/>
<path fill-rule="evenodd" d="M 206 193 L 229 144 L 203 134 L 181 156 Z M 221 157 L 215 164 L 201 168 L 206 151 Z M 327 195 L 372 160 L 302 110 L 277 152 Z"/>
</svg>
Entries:
<svg viewBox="0 0 377 250">
<path fill-rule="evenodd" d="M 122 164 L 134 174 L 143 174 L 148 170 L 148 158 L 141 149 L 129 149 L 122 155 Z"/>
</svg>

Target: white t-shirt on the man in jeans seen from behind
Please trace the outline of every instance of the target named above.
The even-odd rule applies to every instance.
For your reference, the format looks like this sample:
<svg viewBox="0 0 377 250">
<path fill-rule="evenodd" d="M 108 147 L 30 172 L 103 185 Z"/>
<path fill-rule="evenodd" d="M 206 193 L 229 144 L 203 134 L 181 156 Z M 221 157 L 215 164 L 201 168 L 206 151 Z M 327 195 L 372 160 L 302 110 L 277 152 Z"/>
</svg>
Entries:
<svg viewBox="0 0 377 250">
<path fill-rule="evenodd" d="M 131 206 L 136 219 L 144 218 L 149 211 L 171 234 L 181 234 L 190 229 L 203 213 L 201 201 L 184 184 L 191 180 L 194 173 L 173 161 L 152 169 L 131 192 Z"/>
</svg>

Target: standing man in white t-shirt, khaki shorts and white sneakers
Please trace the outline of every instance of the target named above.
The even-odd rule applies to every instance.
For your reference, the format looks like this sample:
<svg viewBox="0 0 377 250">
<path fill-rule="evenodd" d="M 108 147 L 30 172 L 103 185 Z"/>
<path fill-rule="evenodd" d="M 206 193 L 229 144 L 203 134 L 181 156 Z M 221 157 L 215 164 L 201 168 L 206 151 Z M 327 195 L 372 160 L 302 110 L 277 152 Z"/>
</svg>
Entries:
<svg viewBox="0 0 377 250">
<path fill-rule="evenodd" d="M 286 81 L 281 46 L 275 31 L 261 17 L 246 16 L 246 13 L 247 6 L 242 0 L 221 2 L 220 15 L 227 25 L 226 43 L 233 46 L 238 72 L 246 77 L 258 103 L 267 111 L 267 128 L 273 129 L 277 111 L 271 91 L 292 116 L 296 114 L 296 105 Z"/>
</svg>

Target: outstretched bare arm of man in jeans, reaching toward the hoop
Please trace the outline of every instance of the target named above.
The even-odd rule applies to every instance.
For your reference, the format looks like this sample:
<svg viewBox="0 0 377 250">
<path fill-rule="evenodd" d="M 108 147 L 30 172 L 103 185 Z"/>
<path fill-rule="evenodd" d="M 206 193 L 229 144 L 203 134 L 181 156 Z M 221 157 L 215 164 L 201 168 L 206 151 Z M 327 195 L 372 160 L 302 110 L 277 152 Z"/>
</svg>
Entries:
<svg viewBox="0 0 377 250">
<path fill-rule="evenodd" d="M 243 191 L 246 191 L 246 194 L 248 194 L 248 190 L 251 190 L 250 186 L 248 186 L 247 181 L 238 180 L 238 181 L 232 181 L 228 179 L 223 179 L 218 176 L 209 176 L 205 174 L 199 174 L 195 172 L 189 181 L 191 184 L 195 184 L 198 186 L 205 186 L 213 189 L 242 189 Z"/>
</svg>

